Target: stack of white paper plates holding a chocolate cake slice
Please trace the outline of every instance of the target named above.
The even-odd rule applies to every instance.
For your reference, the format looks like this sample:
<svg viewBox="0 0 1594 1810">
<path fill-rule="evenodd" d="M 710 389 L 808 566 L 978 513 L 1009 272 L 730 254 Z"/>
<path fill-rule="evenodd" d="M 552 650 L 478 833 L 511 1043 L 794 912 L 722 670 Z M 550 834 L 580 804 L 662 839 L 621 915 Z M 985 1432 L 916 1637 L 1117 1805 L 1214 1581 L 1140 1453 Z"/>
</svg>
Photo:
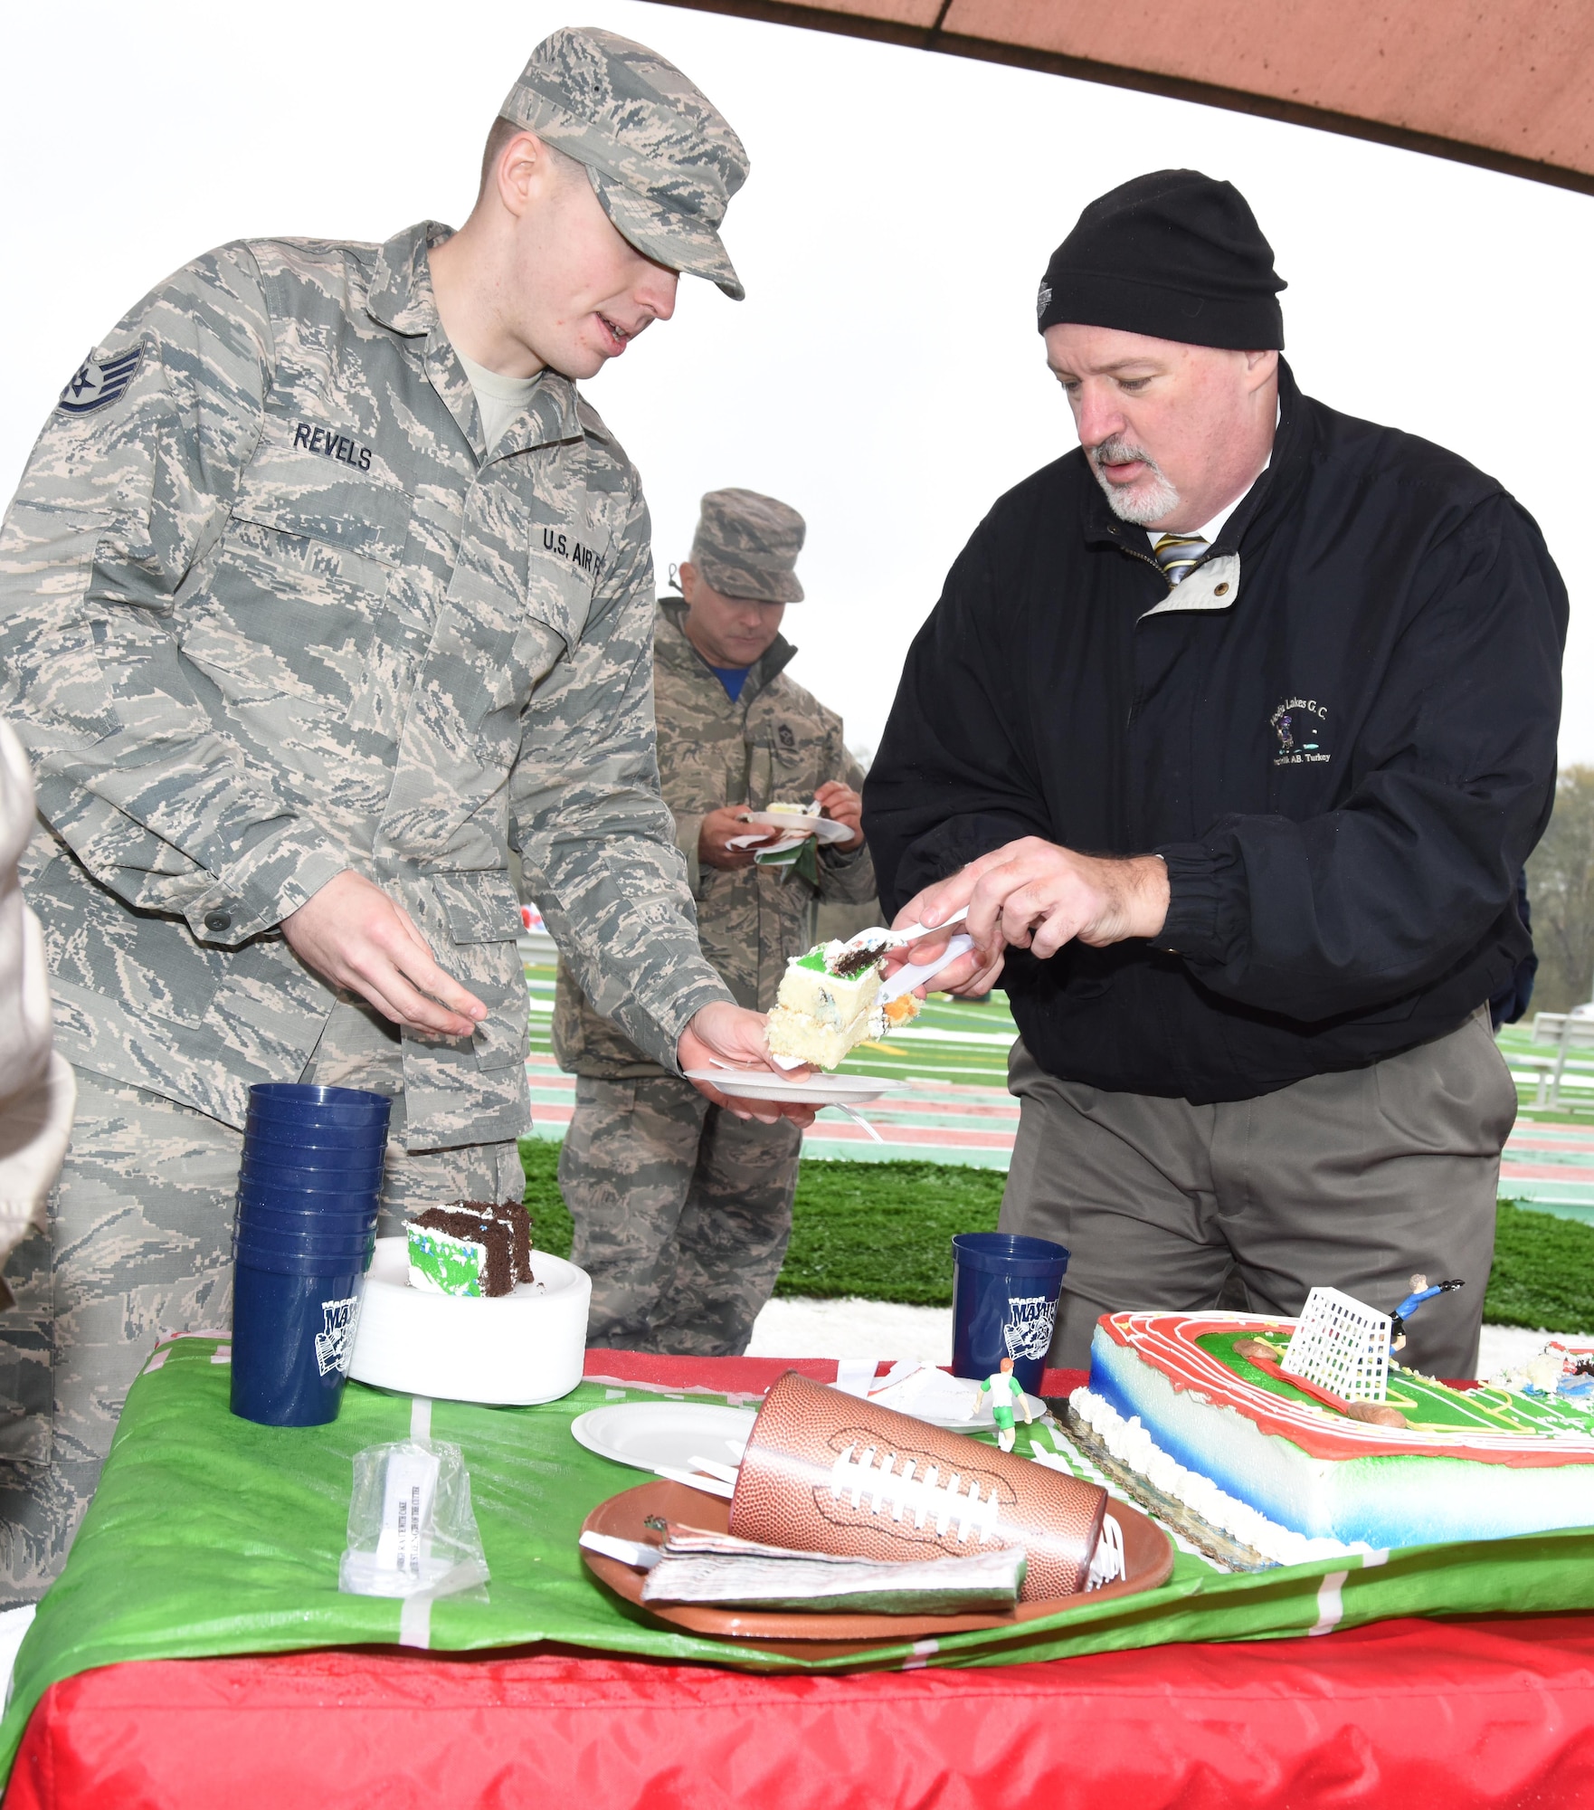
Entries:
<svg viewBox="0 0 1594 1810">
<path fill-rule="evenodd" d="M 494 1300 L 409 1285 L 409 1240 L 378 1238 L 349 1376 L 405 1396 L 527 1406 L 557 1401 L 586 1358 L 584 1269 L 532 1253 L 536 1281 Z"/>
</svg>

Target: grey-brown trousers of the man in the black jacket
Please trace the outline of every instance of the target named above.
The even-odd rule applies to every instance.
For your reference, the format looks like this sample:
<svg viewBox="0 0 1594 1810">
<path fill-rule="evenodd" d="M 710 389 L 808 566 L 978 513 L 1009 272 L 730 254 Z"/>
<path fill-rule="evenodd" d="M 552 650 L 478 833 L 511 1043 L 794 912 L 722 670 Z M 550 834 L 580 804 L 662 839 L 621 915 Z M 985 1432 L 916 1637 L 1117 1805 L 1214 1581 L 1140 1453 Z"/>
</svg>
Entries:
<svg viewBox="0 0 1594 1810">
<path fill-rule="evenodd" d="M 1400 1361 L 1473 1376 L 1516 1088 L 1487 1012 L 1370 1068 L 1192 1106 L 1042 1073 L 1022 1043 L 1001 1227 L 1069 1249 L 1051 1363 L 1089 1365 L 1122 1309 L 1295 1314 L 1312 1287 L 1382 1312 L 1413 1272 L 1466 1289 L 1411 1318 Z"/>
</svg>

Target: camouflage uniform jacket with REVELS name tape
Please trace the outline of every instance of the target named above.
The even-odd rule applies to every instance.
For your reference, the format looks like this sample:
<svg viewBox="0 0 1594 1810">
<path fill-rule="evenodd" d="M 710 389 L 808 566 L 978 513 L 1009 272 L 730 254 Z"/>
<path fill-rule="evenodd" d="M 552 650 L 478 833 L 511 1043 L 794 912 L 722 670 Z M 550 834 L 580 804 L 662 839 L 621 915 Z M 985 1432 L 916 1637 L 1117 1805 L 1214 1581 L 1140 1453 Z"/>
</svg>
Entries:
<svg viewBox="0 0 1594 1810">
<path fill-rule="evenodd" d="M 659 798 L 637 474 L 552 371 L 487 454 L 447 233 L 188 264 L 67 386 L 0 530 L 58 1044 L 233 1126 L 331 1012 L 277 925 L 342 869 L 490 1008 L 403 1039 L 414 1149 L 527 1124 L 510 847 L 650 1055 L 726 997 Z"/>
</svg>

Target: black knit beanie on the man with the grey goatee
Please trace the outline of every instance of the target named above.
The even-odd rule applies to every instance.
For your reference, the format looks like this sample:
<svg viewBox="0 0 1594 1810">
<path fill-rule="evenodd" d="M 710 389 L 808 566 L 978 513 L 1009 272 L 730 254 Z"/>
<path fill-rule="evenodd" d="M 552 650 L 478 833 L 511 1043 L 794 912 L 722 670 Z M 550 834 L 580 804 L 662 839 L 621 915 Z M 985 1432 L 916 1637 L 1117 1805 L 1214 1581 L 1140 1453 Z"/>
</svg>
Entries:
<svg viewBox="0 0 1594 1810">
<path fill-rule="evenodd" d="M 1200 170 L 1154 170 L 1093 201 L 1051 253 L 1040 331 L 1062 320 L 1187 346 L 1283 349 L 1274 248 L 1245 195 Z"/>
</svg>

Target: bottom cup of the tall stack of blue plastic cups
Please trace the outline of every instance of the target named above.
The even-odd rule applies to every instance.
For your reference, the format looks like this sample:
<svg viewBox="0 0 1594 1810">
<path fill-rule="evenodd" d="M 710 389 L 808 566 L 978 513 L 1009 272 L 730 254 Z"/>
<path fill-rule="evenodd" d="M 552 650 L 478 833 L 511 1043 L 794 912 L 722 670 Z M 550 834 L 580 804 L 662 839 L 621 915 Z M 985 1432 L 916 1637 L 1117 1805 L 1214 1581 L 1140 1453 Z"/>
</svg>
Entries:
<svg viewBox="0 0 1594 1810">
<path fill-rule="evenodd" d="M 364 1265 L 317 1260 L 289 1271 L 239 1256 L 232 1303 L 232 1412 L 262 1426 L 326 1426 L 338 1417 Z"/>
</svg>

